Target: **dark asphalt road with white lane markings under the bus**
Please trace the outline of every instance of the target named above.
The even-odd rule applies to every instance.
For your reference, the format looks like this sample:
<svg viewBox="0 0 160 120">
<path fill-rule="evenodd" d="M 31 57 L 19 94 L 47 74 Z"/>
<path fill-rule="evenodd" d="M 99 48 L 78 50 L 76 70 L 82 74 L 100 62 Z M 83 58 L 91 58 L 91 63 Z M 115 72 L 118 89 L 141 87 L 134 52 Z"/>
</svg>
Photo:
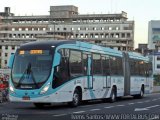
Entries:
<svg viewBox="0 0 160 120">
<path fill-rule="evenodd" d="M 160 120 L 160 93 L 143 99 L 124 97 L 115 103 L 92 101 L 77 108 L 67 104 L 37 109 L 31 103 L 0 103 L 2 120 Z"/>
</svg>

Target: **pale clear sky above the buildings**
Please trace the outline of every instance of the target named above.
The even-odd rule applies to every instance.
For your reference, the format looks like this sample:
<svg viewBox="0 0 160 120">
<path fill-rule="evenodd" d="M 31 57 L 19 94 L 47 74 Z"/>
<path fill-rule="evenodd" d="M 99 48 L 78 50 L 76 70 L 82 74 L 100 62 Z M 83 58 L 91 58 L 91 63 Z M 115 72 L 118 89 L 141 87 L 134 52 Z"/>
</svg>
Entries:
<svg viewBox="0 0 160 120">
<path fill-rule="evenodd" d="M 15 15 L 49 15 L 50 6 L 75 5 L 79 14 L 127 12 L 135 21 L 135 48 L 148 42 L 148 22 L 160 20 L 160 0 L 0 0 L 0 11 L 11 7 Z"/>
</svg>

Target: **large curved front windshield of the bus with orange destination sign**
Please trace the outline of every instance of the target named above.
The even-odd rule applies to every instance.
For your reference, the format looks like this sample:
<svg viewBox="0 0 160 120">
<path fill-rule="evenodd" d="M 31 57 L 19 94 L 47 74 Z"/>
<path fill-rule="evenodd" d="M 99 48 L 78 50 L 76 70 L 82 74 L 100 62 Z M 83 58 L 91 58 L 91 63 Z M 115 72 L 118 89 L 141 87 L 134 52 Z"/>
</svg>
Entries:
<svg viewBox="0 0 160 120">
<path fill-rule="evenodd" d="M 51 66 L 52 55 L 49 50 L 20 50 L 15 55 L 12 81 L 15 87 L 39 88 L 39 84 L 49 77 Z"/>
</svg>

